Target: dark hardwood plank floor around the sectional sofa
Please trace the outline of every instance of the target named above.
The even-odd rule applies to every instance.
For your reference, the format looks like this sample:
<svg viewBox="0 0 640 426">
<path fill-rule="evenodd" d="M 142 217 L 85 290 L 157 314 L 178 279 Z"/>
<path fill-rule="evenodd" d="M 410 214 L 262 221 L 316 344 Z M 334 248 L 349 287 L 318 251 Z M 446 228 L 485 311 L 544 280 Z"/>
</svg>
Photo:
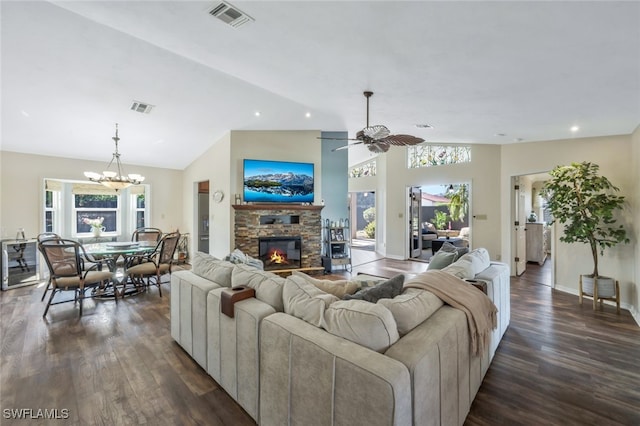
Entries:
<svg viewBox="0 0 640 426">
<path fill-rule="evenodd" d="M 353 273 L 391 276 L 426 265 L 364 259 Z M 640 425 L 640 327 L 627 311 L 594 312 L 512 278 L 511 325 L 466 425 Z M 339 273 L 336 275 L 349 275 Z M 120 300 L 72 303 L 42 318 L 42 287 L 0 292 L 2 425 L 251 425 L 251 418 L 172 339 L 169 285 Z M 13 420 L 57 409 L 68 419 Z"/>
</svg>

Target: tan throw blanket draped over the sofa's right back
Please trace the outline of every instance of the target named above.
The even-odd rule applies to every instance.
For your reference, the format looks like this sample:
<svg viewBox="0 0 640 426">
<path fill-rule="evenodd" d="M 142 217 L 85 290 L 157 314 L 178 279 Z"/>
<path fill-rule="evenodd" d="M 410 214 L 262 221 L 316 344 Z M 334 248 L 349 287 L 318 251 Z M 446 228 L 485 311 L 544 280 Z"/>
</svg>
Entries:
<svg viewBox="0 0 640 426">
<path fill-rule="evenodd" d="M 482 354 L 489 346 L 491 330 L 498 325 L 498 309 L 481 290 L 458 277 L 438 270 L 421 273 L 407 281 L 404 288 L 430 291 L 444 303 L 464 312 L 474 355 Z"/>
</svg>

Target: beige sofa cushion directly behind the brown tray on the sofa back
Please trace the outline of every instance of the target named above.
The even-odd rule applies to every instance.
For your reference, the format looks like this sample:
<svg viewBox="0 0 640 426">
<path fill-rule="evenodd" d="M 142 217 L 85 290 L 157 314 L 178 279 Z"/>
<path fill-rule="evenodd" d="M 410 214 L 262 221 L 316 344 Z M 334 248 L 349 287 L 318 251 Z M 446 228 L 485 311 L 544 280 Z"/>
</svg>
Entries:
<svg viewBox="0 0 640 426">
<path fill-rule="evenodd" d="M 236 265 L 231 274 L 231 284 L 233 287 L 246 285 L 256 291 L 256 299 L 264 302 L 282 312 L 282 289 L 284 278 L 272 272 L 256 269 L 249 265 Z"/>
</svg>

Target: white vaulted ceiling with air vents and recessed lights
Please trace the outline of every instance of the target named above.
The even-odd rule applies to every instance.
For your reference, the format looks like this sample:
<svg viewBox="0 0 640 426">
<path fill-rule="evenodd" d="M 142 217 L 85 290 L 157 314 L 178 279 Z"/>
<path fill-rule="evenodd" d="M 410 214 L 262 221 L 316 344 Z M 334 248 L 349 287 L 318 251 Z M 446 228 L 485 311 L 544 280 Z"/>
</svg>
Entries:
<svg viewBox="0 0 640 426">
<path fill-rule="evenodd" d="M 2 150 L 108 161 L 117 122 L 125 163 L 182 169 L 229 130 L 353 137 L 364 90 L 438 143 L 640 124 L 638 2 L 233 1 L 239 28 L 219 3 L 2 1 Z"/>
</svg>

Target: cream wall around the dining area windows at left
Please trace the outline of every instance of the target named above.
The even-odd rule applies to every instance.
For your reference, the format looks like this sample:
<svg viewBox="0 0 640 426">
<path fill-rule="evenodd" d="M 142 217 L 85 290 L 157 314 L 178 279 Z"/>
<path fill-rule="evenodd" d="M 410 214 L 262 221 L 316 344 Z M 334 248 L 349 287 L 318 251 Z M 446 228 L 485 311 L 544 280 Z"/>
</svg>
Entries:
<svg viewBox="0 0 640 426">
<path fill-rule="evenodd" d="M 43 187 L 45 178 L 86 180 L 86 170 L 102 170 L 105 162 L 0 152 L 0 227 L 2 238 L 15 238 L 17 228 L 27 237 L 44 230 Z M 151 223 L 163 231 L 182 231 L 182 171 L 123 165 L 130 173 L 145 176 L 151 185 Z"/>
</svg>

